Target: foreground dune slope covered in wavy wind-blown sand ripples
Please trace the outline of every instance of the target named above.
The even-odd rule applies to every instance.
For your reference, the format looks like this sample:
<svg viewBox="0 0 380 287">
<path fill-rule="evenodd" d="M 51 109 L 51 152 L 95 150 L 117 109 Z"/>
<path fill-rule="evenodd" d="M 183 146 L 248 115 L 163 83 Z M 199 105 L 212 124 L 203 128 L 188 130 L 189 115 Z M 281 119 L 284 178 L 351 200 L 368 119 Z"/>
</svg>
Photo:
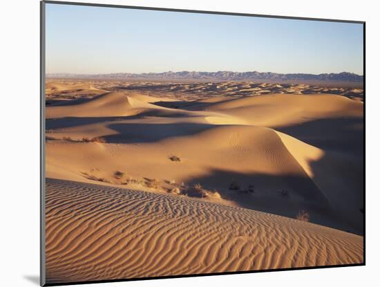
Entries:
<svg viewBox="0 0 380 287">
<path fill-rule="evenodd" d="M 48 283 L 360 263 L 363 237 L 216 203 L 46 180 Z"/>
</svg>

